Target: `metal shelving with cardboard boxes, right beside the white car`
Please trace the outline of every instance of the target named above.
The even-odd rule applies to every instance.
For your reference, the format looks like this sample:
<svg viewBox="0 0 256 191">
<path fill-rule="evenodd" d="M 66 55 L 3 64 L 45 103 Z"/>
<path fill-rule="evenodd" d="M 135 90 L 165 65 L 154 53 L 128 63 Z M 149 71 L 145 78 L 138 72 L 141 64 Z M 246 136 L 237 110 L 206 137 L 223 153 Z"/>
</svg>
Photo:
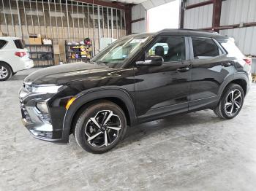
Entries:
<svg viewBox="0 0 256 191">
<path fill-rule="evenodd" d="M 53 44 L 25 44 L 34 67 L 54 66 Z"/>
</svg>

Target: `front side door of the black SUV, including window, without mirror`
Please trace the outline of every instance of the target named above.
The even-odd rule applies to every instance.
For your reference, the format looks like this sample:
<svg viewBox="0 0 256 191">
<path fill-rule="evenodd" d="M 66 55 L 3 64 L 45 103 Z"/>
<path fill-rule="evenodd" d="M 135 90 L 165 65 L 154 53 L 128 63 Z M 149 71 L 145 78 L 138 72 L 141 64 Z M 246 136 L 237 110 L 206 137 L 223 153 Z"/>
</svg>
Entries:
<svg viewBox="0 0 256 191">
<path fill-rule="evenodd" d="M 146 49 L 144 59 L 149 55 L 159 55 L 164 63 L 162 66 L 135 68 L 138 120 L 188 110 L 192 71 L 186 44 L 188 40 L 182 36 L 159 36 Z"/>
</svg>

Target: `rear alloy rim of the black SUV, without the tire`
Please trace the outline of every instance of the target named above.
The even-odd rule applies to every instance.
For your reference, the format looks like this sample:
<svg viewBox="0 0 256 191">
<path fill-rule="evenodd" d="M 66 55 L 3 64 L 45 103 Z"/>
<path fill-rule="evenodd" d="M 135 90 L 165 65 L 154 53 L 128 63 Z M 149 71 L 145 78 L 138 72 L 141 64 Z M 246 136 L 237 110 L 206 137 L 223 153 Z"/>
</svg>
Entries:
<svg viewBox="0 0 256 191">
<path fill-rule="evenodd" d="M 239 111 L 242 101 L 241 91 L 231 90 L 225 99 L 225 113 L 230 117 L 234 116 Z"/>
</svg>

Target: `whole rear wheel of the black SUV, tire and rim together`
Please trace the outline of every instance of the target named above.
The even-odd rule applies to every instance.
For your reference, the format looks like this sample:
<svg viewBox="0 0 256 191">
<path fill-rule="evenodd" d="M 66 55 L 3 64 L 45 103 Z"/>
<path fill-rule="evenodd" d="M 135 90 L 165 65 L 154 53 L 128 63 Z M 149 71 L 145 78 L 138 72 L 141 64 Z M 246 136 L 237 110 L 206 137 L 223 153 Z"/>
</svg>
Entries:
<svg viewBox="0 0 256 191">
<path fill-rule="evenodd" d="M 230 120 L 236 117 L 244 104 L 244 90 L 240 85 L 230 84 L 225 87 L 214 113 L 218 117 Z"/>
</svg>

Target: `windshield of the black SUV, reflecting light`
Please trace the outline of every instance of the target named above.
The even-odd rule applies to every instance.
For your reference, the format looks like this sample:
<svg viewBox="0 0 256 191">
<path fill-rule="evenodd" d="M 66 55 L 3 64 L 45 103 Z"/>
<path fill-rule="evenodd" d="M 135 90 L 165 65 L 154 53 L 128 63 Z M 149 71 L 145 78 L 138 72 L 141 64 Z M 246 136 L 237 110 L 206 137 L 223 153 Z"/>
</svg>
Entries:
<svg viewBox="0 0 256 191">
<path fill-rule="evenodd" d="M 105 63 L 107 66 L 120 66 L 131 58 L 145 44 L 150 34 L 126 36 L 118 39 L 91 59 L 92 63 Z"/>
</svg>

